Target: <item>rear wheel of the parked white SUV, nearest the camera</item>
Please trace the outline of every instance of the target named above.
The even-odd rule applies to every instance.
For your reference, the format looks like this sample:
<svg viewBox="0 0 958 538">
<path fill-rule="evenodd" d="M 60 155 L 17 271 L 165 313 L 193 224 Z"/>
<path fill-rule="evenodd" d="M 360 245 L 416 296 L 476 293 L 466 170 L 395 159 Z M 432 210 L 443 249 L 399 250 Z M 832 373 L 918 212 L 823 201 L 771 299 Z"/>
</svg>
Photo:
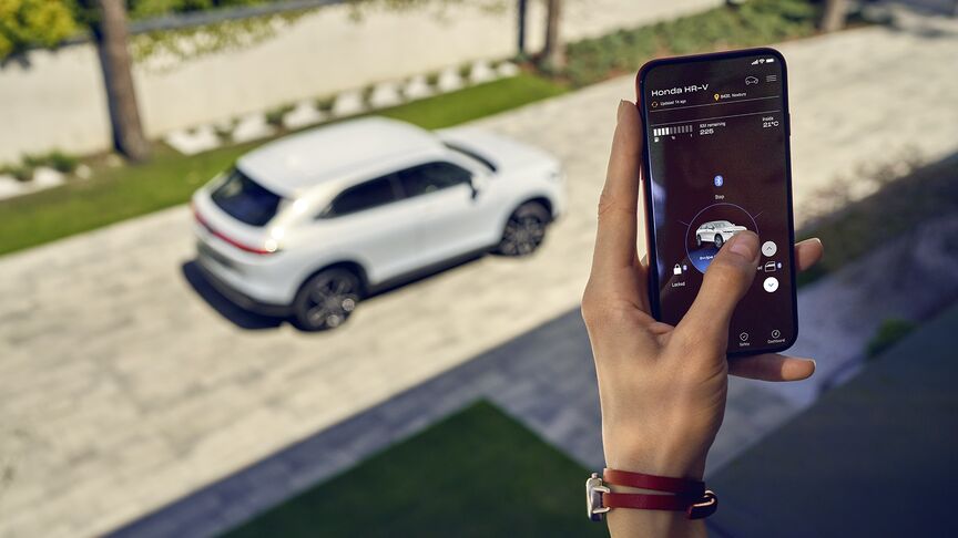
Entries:
<svg viewBox="0 0 958 538">
<path fill-rule="evenodd" d="M 363 281 L 346 268 L 324 269 L 296 292 L 293 315 L 304 331 L 326 331 L 346 322 L 359 302 Z"/>
</svg>

